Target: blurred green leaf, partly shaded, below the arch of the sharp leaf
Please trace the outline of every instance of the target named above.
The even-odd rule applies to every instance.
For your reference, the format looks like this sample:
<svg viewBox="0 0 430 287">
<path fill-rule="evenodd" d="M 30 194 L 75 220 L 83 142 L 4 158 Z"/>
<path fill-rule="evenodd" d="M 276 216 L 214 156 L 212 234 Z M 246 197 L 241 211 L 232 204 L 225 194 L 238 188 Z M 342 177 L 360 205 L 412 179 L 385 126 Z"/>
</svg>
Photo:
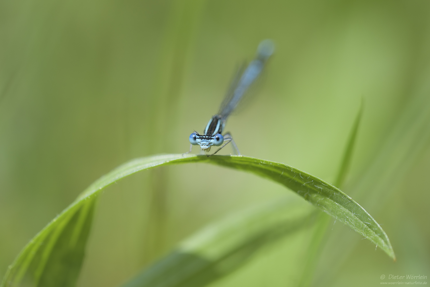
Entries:
<svg viewBox="0 0 430 287">
<path fill-rule="evenodd" d="M 123 287 L 206 286 L 315 219 L 315 209 L 289 198 L 243 210 L 190 236 Z"/>
</svg>

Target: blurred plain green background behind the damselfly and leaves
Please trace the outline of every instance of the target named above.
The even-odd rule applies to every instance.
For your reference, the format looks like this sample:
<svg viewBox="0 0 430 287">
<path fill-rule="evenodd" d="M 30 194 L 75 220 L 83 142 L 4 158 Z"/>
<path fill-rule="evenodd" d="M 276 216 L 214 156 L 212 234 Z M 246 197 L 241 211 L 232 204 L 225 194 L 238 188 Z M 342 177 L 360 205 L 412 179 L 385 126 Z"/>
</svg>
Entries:
<svg viewBox="0 0 430 287">
<path fill-rule="evenodd" d="M 226 130 L 242 154 L 333 182 L 364 98 L 343 191 L 381 224 L 397 262 L 332 220 L 321 244 L 311 226 L 212 285 L 430 276 L 429 15 L 424 0 L 2 0 L 1 275 L 99 176 L 134 157 L 187 151 L 238 65 L 271 38 L 258 92 Z M 78 286 L 118 286 L 209 222 L 286 197 L 307 205 L 273 182 L 205 164 L 138 173 L 101 197 Z"/>
</svg>

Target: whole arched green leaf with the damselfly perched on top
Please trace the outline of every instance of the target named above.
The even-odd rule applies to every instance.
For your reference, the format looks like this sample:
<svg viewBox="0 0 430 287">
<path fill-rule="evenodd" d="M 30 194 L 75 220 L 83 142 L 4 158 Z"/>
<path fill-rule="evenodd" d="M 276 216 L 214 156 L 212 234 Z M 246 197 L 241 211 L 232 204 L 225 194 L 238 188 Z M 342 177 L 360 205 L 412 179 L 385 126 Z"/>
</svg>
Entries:
<svg viewBox="0 0 430 287">
<path fill-rule="evenodd" d="M 58 286 L 66 281 L 65 278 L 70 282 L 68 284 L 74 284 L 77 272 L 73 270 L 79 270 L 82 264 L 94 201 L 100 191 L 140 170 L 191 162 L 206 162 L 249 171 L 279 182 L 349 225 L 395 258 L 387 235 L 375 219 L 338 188 L 315 176 L 286 164 L 252 157 L 168 154 L 132 160 L 95 181 L 24 247 L 15 262 L 9 266 L 1 286 L 16 286 L 23 278 L 36 286 L 42 286 L 42 283 L 43 286 Z M 79 250 L 82 251 L 79 253 Z M 77 256 L 78 253 L 81 255 Z M 55 271 L 61 273 L 50 273 Z"/>
</svg>

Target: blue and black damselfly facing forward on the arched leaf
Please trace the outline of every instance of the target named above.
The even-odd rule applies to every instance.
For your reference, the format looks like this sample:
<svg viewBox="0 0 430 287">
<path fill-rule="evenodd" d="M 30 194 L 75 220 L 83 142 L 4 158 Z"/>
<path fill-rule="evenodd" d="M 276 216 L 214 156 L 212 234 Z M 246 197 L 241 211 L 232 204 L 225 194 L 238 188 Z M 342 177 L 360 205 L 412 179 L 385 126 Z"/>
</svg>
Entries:
<svg viewBox="0 0 430 287">
<path fill-rule="evenodd" d="M 254 83 L 254 81 L 261 74 L 264 64 L 273 54 L 273 51 L 274 45 L 271 40 L 267 39 L 261 41 L 261 43 L 258 45 L 255 59 L 249 63 L 248 67 L 246 67 L 242 74 L 239 74 L 237 77 L 235 77 L 229 91 L 227 92 L 227 95 L 221 103 L 218 114 L 215 114 L 209 120 L 203 135 L 200 135 L 197 132 L 194 132 L 190 135 L 191 145 L 189 152 L 191 152 L 193 145 L 200 145 L 202 151 L 210 151 L 212 145 L 222 145 L 217 151 L 213 153 L 216 154 L 221 148 L 231 142 L 235 153 L 240 155 L 239 149 L 237 148 L 237 145 L 230 133 L 225 133 L 223 136 L 222 131 L 224 130 L 227 117 L 231 114 L 231 112 L 233 112 L 235 108 L 237 108 L 237 105 L 245 95 L 249 86 L 251 86 L 251 84 Z"/>
</svg>

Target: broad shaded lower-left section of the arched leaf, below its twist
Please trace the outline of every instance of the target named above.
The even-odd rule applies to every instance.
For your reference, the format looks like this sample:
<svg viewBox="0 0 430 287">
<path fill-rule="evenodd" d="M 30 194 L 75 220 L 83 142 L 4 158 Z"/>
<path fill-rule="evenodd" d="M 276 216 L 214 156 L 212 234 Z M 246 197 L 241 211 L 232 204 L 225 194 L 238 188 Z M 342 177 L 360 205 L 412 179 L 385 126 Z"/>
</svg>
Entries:
<svg viewBox="0 0 430 287">
<path fill-rule="evenodd" d="M 83 198 L 52 220 L 9 266 L 1 286 L 75 286 L 94 205 L 94 197 Z"/>
</svg>

